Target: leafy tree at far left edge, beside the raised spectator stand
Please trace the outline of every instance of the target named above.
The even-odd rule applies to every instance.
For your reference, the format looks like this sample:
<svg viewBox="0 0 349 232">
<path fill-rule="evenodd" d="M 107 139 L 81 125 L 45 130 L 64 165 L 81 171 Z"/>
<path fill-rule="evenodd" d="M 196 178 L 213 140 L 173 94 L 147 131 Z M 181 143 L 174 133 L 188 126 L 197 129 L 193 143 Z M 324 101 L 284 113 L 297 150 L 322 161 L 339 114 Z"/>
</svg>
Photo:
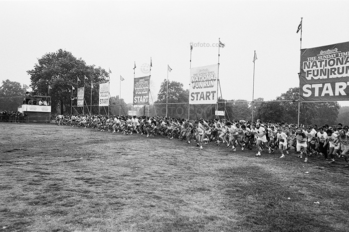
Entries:
<svg viewBox="0 0 349 232">
<path fill-rule="evenodd" d="M 22 105 L 25 88 L 19 82 L 5 80 L 0 87 L 0 110 L 17 111 L 17 107 Z"/>
</svg>

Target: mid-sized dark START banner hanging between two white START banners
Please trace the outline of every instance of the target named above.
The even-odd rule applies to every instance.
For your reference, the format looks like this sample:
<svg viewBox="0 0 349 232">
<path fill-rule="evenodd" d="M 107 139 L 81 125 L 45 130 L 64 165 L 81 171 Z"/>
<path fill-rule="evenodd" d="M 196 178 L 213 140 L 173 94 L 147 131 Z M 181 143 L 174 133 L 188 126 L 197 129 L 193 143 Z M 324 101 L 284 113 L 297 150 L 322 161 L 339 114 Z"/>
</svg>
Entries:
<svg viewBox="0 0 349 232">
<path fill-rule="evenodd" d="M 134 79 L 133 105 L 149 104 L 150 76 L 136 77 Z"/>
</svg>

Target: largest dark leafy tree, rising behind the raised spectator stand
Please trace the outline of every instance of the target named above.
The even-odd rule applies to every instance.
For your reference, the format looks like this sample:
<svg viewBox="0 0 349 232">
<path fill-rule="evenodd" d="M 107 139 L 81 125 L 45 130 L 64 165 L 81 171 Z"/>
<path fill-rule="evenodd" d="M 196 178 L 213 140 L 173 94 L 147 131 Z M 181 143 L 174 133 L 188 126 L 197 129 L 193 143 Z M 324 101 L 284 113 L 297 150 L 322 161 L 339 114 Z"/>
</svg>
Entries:
<svg viewBox="0 0 349 232">
<path fill-rule="evenodd" d="M 106 82 L 109 77 L 109 73 L 104 69 L 94 65 L 88 66 L 81 58 L 78 59 L 71 52 L 62 49 L 43 55 L 27 73 L 30 75 L 32 89 L 37 94 L 50 95 L 52 108 L 56 109 L 59 106 L 60 113 L 69 112 L 71 96 L 76 96 L 77 88 L 86 83 L 90 85 L 91 82 L 98 87 L 98 83 Z M 90 93 L 91 89 L 85 88 L 85 94 Z M 97 103 L 98 88 L 92 89 L 92 95 L 92 104 Z M 86 100 L 90 102 L 89 99 Z"/>
</svg>

